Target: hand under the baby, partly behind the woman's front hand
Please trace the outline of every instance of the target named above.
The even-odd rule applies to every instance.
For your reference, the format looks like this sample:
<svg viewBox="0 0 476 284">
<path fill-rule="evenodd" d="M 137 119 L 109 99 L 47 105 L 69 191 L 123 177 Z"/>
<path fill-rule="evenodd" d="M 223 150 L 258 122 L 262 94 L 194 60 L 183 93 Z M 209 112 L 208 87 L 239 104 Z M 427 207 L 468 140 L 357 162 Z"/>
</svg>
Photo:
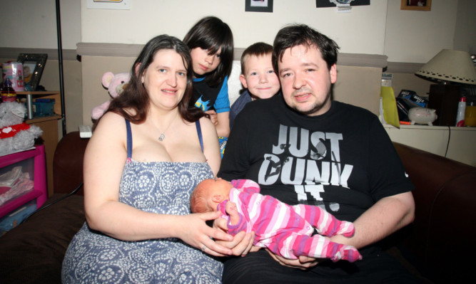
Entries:
<svg viewBox="0 0 476 284">
<path fill-rule="evenodd" d="M 219 211 L 218 211 L 219 212 Z M 228 226 L 226 225 L 226 220 L 223 218 L 216 219 L 213 222 L 213 228 L 217 228 L 221 230 L 223 233 L 228 231 Z M 227 234 L 227 236 L 229 236 Z M 245 231 L 240 231 L 237 233 L 233 240 L 226 241 L 226 240 L 218 240 L 216 239 L 216 243 L 225 246 L 226 248 L 231 248 L 233 256 L 246 256 L 250 251 L 258 251 L 259 248 L 253 248 L 253 241 L 255 240 L 255 233 L 246 233 Z M 253 250 L 252 250 L 253 248 Z"/>
</svg>

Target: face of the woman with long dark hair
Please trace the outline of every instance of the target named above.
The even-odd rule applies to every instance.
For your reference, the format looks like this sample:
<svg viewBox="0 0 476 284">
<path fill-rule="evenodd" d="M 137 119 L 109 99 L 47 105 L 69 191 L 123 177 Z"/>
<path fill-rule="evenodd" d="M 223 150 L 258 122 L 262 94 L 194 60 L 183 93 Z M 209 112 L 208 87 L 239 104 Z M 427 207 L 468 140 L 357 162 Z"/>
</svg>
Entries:
<svg viewBox="0 0 476 284">
<path fill-rule="evenodd" d="M 142 76 L 151 104 L 163 110 L 177 107 L 187 87 L 187 68 L 172 49 L 157 51 Z"/>
</svg>

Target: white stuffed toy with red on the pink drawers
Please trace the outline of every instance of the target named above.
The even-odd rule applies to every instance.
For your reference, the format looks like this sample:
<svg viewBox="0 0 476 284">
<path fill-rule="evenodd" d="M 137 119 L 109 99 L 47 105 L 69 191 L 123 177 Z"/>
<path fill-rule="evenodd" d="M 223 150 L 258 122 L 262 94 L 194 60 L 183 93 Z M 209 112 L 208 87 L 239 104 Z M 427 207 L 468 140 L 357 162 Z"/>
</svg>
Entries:
<svg viewBox="0 0 476 284">
<path fill-rule="evenodd" d="M 43 130 L 35 125 L 23 122 L 25 105 L 20 102 L 0 103 L 0 155 L 24 151 L 34 146 L 35 138 Z"/>
</svg>

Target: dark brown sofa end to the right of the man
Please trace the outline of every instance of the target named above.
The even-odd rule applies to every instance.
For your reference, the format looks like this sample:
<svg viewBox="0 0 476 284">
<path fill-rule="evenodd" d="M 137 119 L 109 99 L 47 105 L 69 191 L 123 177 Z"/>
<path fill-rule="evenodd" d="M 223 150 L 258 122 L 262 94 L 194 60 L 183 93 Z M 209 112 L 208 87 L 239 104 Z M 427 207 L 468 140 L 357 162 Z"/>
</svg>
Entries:
<svg viewBox="0 0 476 284">
<path fill-rule="evenodd" d="M 405 246 L 425 264 L 432 278 L 462 279 L 472 271 L 470 265 L 475 265 L 470 251 L 476 238 L 476 167 L 393 144 L 415 184 L 415 221 Z"/>
</svg>

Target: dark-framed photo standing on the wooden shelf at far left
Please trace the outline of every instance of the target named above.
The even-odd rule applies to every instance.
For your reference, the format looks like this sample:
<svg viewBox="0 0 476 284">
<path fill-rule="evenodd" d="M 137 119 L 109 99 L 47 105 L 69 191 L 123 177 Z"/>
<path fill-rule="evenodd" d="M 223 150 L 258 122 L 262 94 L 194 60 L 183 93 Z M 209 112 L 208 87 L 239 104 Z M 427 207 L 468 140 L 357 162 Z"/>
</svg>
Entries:
<svg viewBox="0 0 476 284">
<path fill-rule="evenodd" d="M 20 53 L 16 61 L 23 64 L 25 90 L 36 90 L 45 68 L 46 59 L 48 59 L 46 53 Z"/>
</svg>

